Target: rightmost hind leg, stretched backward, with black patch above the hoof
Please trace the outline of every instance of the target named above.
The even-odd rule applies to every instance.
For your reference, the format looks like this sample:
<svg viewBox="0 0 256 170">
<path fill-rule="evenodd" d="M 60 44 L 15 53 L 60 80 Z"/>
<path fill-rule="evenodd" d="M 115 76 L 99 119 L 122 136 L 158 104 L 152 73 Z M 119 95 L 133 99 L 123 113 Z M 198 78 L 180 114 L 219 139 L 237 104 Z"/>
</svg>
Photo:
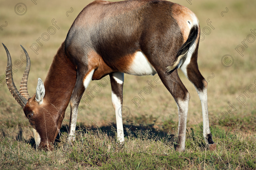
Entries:
<svg viewBox="0 0 256 170">
<path fill-rule="evenodd" d="M 201 100 L 202 112 L 203 112 L 203 136 L 208 144 L 210 150 L 215 150 L 216 144 L 212 140 L 212 134 L 209 128 L 208 118 L 208 105 L 207 105 L 207 81 L 201 75 L 197 65 L 197 51 L 198 44 L 195 51 L 189 51 L 187 57 L 183 59 L 183 64 L 180 66 L 184 75 L 195 86 L 199 98 Z"/>
</svg>

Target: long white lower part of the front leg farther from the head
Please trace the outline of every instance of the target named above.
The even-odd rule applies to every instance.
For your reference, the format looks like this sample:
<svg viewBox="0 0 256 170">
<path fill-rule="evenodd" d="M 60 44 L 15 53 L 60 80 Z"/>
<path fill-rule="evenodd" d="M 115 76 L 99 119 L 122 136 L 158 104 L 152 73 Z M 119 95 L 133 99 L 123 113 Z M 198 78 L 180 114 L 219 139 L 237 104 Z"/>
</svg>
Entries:
<svg viewBox="0 0 256 170">
<path fill-rule="evenodd" d="M 123 119 L 122 119 L 122 104 L 121 99 L 117 97 L 115 93 L 111 93 L 112 104 L 116 113 L 116 128 L 117 128 L 117 140 L 122 143 L 124 141 L 123 134 Z"/>
</svg>

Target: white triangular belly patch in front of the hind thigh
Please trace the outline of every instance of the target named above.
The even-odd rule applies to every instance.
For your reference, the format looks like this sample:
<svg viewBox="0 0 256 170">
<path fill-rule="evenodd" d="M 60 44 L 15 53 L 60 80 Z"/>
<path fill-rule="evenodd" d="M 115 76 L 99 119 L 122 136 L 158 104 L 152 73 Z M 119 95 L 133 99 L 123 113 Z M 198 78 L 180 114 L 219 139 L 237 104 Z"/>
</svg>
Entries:
<svg viewBox="0 0 256 170">
<path fill-rule="evenodd" d="M 148 62 L 146 56 L 141 51 L 137 51 L 132 64 L 125 73 L 130 75 L 155 75 L 156 71 Z"/>
</svg>

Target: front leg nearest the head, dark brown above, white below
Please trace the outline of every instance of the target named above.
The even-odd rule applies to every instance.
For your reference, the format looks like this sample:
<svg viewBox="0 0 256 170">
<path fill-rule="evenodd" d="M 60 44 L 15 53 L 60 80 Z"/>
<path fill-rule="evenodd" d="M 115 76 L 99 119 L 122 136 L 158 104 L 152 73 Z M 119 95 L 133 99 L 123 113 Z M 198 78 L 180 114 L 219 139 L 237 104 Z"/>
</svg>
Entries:
<svg viewBox="0 0 256 170">
<path fill-rule="evenodd" d="M 75 141 L 76 135 L 76 119 L 77 119 L 77 109 L 84 93 L 84 90 L 89 85 L 94 69 L 87 71 L 85 73 L 77 73 L 76 85 L 74 87 L 73 93 L 70 98 L 70 120 L 69 120 L 69 137 L 68 143 L 72 144 Z M 85 76 L 84 76 L 85 75 Z"/>
</svg>

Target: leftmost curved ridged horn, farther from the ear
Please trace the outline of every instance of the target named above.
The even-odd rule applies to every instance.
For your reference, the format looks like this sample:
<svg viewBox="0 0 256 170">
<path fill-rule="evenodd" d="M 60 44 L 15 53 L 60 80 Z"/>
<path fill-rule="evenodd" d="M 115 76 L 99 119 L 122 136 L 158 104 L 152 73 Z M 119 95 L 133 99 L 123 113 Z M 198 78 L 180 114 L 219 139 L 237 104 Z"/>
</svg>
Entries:
<svg viewBox="0 0 256 170">
<path fill-rule="evenodd" d="M 3 43 L 2 43 L 3 44 Z M 5 47 L 5 45 L 3 44 L 3 46 Z M 11 92 L 11 94 L 13 95 L 13 97 L 16 99 L 16 101 L 20 104 L 20 106 L 22 108 L 24 108 L 27 104 L 27 99 L 20 94 L 20 92 L 17 90 L 14 82 L 13 82 L 13 78 L 12 78 L 12 58 L 11 55 L 8 51 L 8 49 L 5 47 L 5 51 L 7 54 L 7 67 L 6 67 L 6 84 L 7 87 L 9 88 L 9 91 Z"/>
</svg>

